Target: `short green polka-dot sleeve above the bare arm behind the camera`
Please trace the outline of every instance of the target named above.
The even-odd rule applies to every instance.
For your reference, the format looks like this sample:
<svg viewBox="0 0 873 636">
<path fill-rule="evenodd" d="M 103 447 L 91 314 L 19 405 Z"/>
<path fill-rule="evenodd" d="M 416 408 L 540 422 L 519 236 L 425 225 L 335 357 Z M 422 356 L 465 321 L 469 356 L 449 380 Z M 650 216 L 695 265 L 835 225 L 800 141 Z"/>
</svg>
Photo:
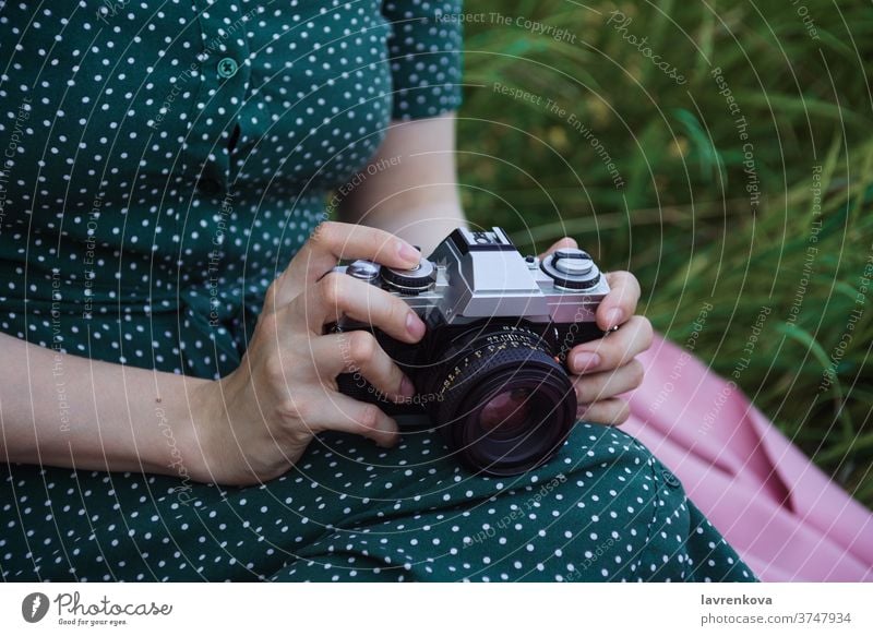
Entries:
<svg viewBox="0 0 873 636">
<path fill-rule="evenodd" d="M 461 106 L 462 0 L 385 0 L 394 119 L 435 117 Z"/>
</svg>

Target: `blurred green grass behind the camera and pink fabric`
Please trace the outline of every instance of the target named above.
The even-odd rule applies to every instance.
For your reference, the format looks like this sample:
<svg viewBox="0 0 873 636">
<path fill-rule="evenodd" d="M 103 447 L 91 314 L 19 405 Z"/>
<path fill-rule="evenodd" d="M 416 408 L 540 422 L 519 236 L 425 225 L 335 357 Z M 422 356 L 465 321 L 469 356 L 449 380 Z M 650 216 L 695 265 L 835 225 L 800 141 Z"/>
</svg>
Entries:
<svg viewBox="0 0 873 636">
<path fill-rule="evenodd" d="M 465 25 L 458 123 L 471 220 L 509 228 L 523 249 L 576 237 L 605 268 L 636 274 L 641 311 L 679 344 L 711 303 L 695 353 L 726 377 L 749 358 L 738 385 L 873 507 L 870 4 L 586 7 L 465 4 L 481 15 Z M 762 307 L 772 313 L 746 356 Z"/>
</svg>

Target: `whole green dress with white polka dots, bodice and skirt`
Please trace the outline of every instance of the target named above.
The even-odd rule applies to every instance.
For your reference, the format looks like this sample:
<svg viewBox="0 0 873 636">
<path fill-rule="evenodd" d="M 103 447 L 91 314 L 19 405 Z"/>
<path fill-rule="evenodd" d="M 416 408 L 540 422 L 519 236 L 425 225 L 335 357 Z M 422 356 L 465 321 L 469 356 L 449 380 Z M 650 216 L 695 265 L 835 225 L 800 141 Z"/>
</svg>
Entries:
<svg viewBox="0 0 873 636">
<path fill-rule="evenodd" d="M 392 118 L 458 107 L 456 2 L 0 8 L 0 331 L 232 371 Z M 432 431 L 324 434 L 259 487 L 2 465 L 3 580 L 753 580 L 626 434 L 473 476 Z"/>
</svg>

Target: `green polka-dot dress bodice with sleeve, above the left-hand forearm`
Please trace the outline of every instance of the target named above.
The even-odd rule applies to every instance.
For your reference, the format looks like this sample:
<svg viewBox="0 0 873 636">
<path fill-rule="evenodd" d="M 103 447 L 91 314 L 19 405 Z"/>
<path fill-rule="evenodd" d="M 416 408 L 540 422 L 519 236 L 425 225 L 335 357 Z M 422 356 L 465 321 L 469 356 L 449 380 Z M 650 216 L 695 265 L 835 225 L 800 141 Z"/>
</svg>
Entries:
<svg viewBox="0 0 873 636">
<path fill-rule="evenodd" d="M 459 26 L 439 20 L 457 10 L 8 5 L 0 331 L 110 362 L 235 369 L 326 193 L 392 117 L 458 106 Z"/>
</svg>

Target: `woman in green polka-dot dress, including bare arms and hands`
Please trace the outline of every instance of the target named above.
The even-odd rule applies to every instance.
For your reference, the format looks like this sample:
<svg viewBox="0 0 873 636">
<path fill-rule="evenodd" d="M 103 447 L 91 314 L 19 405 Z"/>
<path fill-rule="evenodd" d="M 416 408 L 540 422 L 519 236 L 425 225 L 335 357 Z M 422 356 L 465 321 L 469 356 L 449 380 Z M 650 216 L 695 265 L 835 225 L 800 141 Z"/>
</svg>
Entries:
<svg viewBox="0 0 873 636">
<path fill-rule="evenodd" d="M 3 9 L 4 579 L 752 578 L 601 425 L 651 335 L 626 273 L 598 310 L 621 328 L 571 357 L 585 423 L 536 471 L 470 476 L 337 393 L 351 369 L 415 388 L 372 338 L 322 333 L 348 314 L 414 345 L 421 321 L 325 274 L 408 267 L 464 223 L 458 11 Z M 346 223 L 319 225 L 331 190 Z"/>
</svg>

